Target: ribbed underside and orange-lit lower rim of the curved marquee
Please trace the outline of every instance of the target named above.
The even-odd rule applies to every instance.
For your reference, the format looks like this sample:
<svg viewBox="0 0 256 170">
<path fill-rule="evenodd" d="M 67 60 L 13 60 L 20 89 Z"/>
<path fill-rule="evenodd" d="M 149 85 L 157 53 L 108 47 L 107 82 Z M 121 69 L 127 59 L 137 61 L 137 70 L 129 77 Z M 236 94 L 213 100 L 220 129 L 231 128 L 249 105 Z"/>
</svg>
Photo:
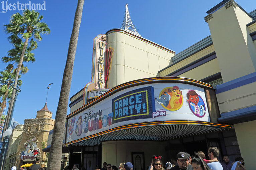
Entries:
<svg viewBox="0 0 256 170">
<path fill-rule="evenodd" d="M 196 136 L 207 133 L 220 132 L 230 129 L 230 125 L 216 124 L 200 121 L 162 121 L 155 125 L 134 124 L 130 127 L 119 127 L 108 133 L 86 137 L 83 141 L 66 143 L 66 146 L 94 146 L 104 141 L 111 140 L 141 140 L 141 141 L 164 141 L 182 137 Z"/>
</svg>

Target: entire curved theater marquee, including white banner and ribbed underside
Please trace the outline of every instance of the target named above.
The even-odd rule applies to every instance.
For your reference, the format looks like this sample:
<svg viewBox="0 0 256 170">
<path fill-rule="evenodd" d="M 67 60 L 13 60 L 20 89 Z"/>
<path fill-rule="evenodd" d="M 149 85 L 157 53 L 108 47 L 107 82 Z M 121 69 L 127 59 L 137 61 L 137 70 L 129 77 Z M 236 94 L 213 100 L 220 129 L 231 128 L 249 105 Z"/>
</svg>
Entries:
<svg viewBox="0 0 256 170">
<path fill-rule="evenodd" d="M 214 89 L 188 78 L 155 77 L 114 87 L 67 116 L 64 146 L 110 140 L 162 141 L 219 132 Z"/>
</svg>

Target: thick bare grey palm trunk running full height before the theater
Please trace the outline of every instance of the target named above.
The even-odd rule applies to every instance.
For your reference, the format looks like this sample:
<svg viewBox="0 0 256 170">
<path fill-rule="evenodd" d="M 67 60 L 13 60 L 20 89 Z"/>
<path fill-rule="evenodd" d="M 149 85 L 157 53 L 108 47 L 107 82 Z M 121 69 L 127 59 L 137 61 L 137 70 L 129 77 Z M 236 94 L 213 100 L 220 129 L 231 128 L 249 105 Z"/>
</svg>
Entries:
<svg viewBox="0 0 256 170">
<path fill-rule="evenodd" d="M 65 122 L 68 109 L 69 93 L 71 87 L 71 79 L 73 73 L 73 65 L 77 49 L 78 33 L 82 18 L 84 0 L 78 0 L 77 9 L 75 13 L 72 34 L 70 37 L 68 56 L 65 70 L 63 73 L 62 84 L 59 95 L 59 102 L 55 116 L 55 123 L 53 128 L 51 148 L 49 152 L 49 159 L 47 164 L 48 170 L 60 169 L 61 151 L 63 143 L 63 135 L 65 132 Z"/>
</svg>

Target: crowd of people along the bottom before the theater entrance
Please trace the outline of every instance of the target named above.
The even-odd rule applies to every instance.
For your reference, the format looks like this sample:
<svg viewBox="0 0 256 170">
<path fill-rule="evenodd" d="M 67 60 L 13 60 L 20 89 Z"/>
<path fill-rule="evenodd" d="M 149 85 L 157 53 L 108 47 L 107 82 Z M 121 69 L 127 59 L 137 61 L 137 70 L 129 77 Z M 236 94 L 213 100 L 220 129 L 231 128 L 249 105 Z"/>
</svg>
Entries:
<svg viewBox="0 0 256 170">
<path fill-rule="evenodd" d="M 209 160 L 206 159 L 205 153 L 199 151 L 190 156 L 186 152 L 179 152 L 176 159 L 171 159 L 170 162 L 165 164 L 162 162 L 162 156 L 153 155 L 152 161 L 148 170 L 246 170 L 244 167 L 244 160 L 242 157 L 235 159 L 235 162 L 231 162 L 227 155 L 223 156 L 223 162 L 219 162 L 217 157 L 220 151 L 216 147 L 210 147 L 208 149 Z M 164 166 L 165 165 L 165 166 Z M 67 170 L 67 169 L 64 169 Z M 79 170 L 75 165 L 72 170 Z M 85 170 L 85 168 L 81 169 Z M 118 170 L 114 165 L 103 163 L 103 168 L 99 169 L 97 166 L 95 170 Z M 119 170 L 135 170 L 130 162 L 121 163 Z"/>
</svg>

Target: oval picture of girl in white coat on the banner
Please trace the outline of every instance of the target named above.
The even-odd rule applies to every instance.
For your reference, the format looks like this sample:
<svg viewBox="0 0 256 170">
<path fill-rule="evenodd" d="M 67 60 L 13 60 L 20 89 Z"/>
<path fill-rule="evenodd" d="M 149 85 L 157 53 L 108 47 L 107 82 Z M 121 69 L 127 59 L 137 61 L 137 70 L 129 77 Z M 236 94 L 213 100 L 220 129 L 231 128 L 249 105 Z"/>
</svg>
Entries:
<svg viewBox="0 0 256 170">
<path fill-rule="evenodd" d="M 205 104 L 201 96 L 195 90 L 188 90 L 187 102 L 190 110 L 198 117 L 203 117 L 206 114 Z M 200 105 L 200 106 L 199 106 Z"/>
</svg>

